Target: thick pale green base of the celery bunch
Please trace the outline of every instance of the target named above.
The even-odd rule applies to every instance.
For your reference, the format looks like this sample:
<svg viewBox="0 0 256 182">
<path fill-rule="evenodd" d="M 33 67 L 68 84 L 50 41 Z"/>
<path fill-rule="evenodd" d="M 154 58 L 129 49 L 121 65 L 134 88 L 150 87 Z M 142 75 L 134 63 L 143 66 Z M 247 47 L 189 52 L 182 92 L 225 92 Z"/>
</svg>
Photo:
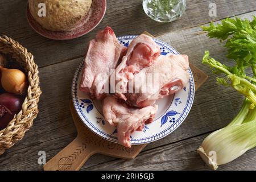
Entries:
<svg viewBox="0 0 256 182">
<path fill-rule="evenodd" d="M 226 164 L 256 146 L 256 119 L 241 125 L 229 125 L 214 131 L 197 149 L 212 169 Z"/>
</svg>

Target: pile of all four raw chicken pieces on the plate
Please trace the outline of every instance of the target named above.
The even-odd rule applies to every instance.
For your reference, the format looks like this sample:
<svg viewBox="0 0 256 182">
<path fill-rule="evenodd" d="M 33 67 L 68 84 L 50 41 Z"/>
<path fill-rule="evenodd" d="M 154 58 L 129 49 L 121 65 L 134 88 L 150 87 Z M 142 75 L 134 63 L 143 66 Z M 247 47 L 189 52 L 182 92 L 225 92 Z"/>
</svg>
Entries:
<svg viewBox="0 0 256 182">
<path fill-rule="evenodd" d="M 158 110 L 155 101 L 187 85 L 188 69 L 187 55 L 160 55 L 150 36 L 138 36 L 127 49 L 119 44 L 112 28 L 106 27 L 89 43 L 80 90 L 92 98 L 105 97 L 105 120 L 117 127 L 119 143 L 131 147 L 131 133 L 142 131 L 145 123 L 154 121 Z M 115 97 L 104 93 L 109 91 L 110 75 L 110 86 L 115 78 Z"/>
</svg>

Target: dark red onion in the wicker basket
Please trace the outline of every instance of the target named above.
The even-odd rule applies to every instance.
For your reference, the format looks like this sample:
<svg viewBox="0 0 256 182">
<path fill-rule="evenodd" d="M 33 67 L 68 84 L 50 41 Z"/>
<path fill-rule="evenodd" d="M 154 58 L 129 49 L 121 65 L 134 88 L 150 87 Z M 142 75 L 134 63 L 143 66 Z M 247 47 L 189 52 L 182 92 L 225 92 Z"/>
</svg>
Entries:
<svg viewBox="0 0 256 182">
<path fill-rule="evenodd" d="M 6 128 L 15 114 L 22 109 L 23 97 L 11 93 L 0 95 L 0 130 Z"/>
</svg>

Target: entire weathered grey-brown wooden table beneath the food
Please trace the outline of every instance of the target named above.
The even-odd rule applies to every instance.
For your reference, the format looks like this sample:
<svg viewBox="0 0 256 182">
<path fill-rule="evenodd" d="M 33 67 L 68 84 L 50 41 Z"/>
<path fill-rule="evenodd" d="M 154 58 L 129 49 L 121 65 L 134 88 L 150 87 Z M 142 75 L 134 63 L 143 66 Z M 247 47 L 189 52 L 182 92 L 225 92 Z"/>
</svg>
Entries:
<svg viewBox="0 0 256 182">
<path fill-rule="evenodd" d="M 209 3 L 217 5 L 217 17 L 208 15 Z M 255 0 L 188 0 L 185 14 L 172 23 L 157 23 L 146 16 L 142 0 L 108 0 L 102 22 L 89 34 L 67 41 L 56 41 L 36 34 L 26 19 L 26 0 L 1 0 L 0 34 L 8 35 L 26 47 L 39 65 L 43 90 L 40 114 L 24 139 L 0 156 L 1 170 L 41 170 L 38 152 L 46 151 L 47 161 L 67 146 L 76 136 L 69 111 L 73 73 L 85 54 L 88 40 L 105 26 L 117 36 L 140 34 L 144 30 L 171 44 L 180 53 L 209 75 L 196 92 L 192 110 L 186 121 L 161 140 L 150 143 L 134 160 L 121 160 L 94 155 L 83 170 L 208 170 L 196 148 L 212 131 L 226 126 L 240 109 L 243 97 L 232 89 L 217 85 L 207 65 L 201 63 L 204 50 L 209 49 L 216 59 L 224 60 L 226 49 L 217 40 L 200 34 L 199 25 L 217 22 L 232 16 L 250 18 L 256 15 Z M 256 148 L 220 170 L 256 169 Z"/>
</svg>

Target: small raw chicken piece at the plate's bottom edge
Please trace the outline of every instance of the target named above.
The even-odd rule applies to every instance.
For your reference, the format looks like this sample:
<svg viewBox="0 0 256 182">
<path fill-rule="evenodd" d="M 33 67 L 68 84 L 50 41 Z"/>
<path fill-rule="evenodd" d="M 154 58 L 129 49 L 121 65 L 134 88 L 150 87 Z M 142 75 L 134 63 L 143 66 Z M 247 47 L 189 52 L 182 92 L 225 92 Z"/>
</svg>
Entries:
<svg viewBox="0 0 256 182">
<path fill-rule="evenodd" d="M 129 108 L 112 96 L 104 99 L 103 113 L 110 125 L 117 126 L 117 137 L 123 146 L 131 147 L 130 135 L 133 131 L 142 131 L 144 123 L 154 120 L 158 106 L 147 106 L 142 109 Z"/>
</svg>

